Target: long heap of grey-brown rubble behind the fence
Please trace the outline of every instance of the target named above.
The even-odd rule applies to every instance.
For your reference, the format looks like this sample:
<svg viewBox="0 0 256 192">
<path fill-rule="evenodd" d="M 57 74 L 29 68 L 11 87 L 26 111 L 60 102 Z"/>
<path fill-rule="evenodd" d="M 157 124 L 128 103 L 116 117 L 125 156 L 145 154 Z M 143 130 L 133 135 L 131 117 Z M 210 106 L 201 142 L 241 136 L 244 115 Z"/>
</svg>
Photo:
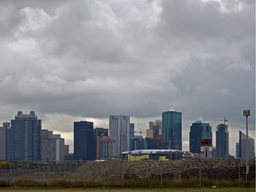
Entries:
<svg viewBox="0 0 256 192">
<path fill-rule="evenodd" d="M 245 162 L 234 158 L 188 159 L 180 161 L 122 161 L 88 162 L 74 174 L 84 178 L 192 178 L 237 179 L 245 175 Z M 250 162 L 250 178 L 255 178 L 255 161 Z"/>
</svg>

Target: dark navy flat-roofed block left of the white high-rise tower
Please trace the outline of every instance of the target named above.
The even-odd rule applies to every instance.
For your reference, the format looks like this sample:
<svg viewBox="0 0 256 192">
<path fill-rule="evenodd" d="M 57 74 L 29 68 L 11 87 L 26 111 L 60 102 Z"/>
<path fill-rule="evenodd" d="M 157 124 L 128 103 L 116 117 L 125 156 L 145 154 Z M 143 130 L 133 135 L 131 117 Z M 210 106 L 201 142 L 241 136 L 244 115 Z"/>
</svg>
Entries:
<svg viewBox="0 0 256 192">
<path fill-rule="evenodd" d="M 95 160 L 96 133 L 93 122 L 74 122 L 74 160 Z"/>
</svg>

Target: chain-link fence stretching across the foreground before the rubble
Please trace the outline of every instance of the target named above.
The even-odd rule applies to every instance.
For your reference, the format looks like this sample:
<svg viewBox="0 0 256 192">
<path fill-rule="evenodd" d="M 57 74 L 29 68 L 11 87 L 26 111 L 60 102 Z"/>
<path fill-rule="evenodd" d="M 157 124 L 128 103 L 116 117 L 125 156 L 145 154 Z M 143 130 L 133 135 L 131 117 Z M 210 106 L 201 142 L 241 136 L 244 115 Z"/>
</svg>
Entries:
<svg viewBox="0 0 256 192">
<path fill-rule="evenodd" d="M 187 159 L 173 161 L 108 160 L 58 164 L 9 163 L 0 168 L 0 181 L 9 186 L 44 184 L 85 187 L 243 187 L 245 160 L 234 158 Z M 255 184 L 255 161 L 248 175 Z M 30 184 L 29 184 L 30 183 Z M 1 183 L 0 183 L 1 185 Z"/>
</svg>

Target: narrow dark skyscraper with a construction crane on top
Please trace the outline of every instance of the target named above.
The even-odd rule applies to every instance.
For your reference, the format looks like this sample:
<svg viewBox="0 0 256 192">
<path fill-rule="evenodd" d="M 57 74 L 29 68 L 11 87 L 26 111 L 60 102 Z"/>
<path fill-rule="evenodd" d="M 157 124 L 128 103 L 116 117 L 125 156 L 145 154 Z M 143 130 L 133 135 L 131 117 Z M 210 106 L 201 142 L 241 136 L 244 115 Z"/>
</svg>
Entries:
<svg viewBox="0 0 256 192">
<path fill-rule="evenodd" d="M 228 124 L 218 124 L 216 127 L 216 156 L 228 156 Z"/>
</svg>

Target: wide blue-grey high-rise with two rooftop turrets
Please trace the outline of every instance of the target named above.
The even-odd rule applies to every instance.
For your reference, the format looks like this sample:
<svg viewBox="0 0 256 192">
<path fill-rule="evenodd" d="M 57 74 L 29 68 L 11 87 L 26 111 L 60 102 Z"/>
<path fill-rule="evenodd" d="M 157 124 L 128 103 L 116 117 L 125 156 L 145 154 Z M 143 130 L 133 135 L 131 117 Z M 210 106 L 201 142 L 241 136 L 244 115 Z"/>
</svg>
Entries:
<svg viewBox="0 0 256 192">
<path fill-rule="evenodd" d="M 34 111 L 29 115 L 19 111 L 11 120 L 10 129 L 7 129 L 7 160 L 41 161 L 41 129 L 42 120 L 37 119 Z"/>
</svg>

